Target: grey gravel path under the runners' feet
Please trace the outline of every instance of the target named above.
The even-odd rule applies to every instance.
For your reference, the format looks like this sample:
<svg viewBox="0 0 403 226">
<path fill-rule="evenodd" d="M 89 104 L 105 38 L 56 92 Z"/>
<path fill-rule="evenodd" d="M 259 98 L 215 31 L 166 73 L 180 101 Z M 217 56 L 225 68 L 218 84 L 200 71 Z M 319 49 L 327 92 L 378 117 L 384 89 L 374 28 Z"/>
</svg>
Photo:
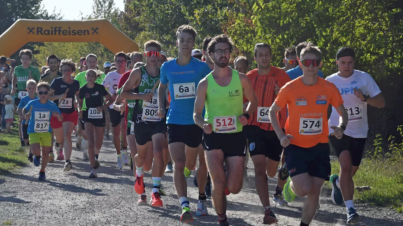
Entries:
<svg viewBox="0 0 403 226">
<path fill-rule="evenodd" d="M 73 138 L 75 142 L 76 138 Z M 73 143 L 74 146 L 74 143 Z M 38 182 L 39 168 L 29 164 L 13 173 L 0 176 L 0 225 L 67 226 L 67 225 L 185 225 L 179 221 L 180 208 L 172 173 L 164 175 L 162 196 L 164 207 L 136 206 L 139 195 L 133 190 L 134 178 L 129 166 L 118 169 L 116 152 L 112 141 L 105 140 L 100 153 L 101 168 L 98 179 L 90 179 L 89 162 L 82 161 L 82 152 L 73 149 L 73 169 L 62 171 L 63 162 L 55 161 L 46 168 L 47 181 Z M 254 188 L 253 164 L 248 165 L 248 179 L 242 191 L 227 196 L 227 216 L 231 225 L 263 225 L 263 207 Z M 191 225 L 218 225 L 218 218 L 208 200 L 210 216 L 197 217 L 195 209 L 198 192 L 191 178 L 187 179 L 188 196 L 195 221 Z M 151 174 L 146 173 L 144 182 L 147 195 L 151 193 Z M 274 191 L 276 181 L 269 179 L 269 190 Z M 270 192 L 270 193 L 271 193 Z M 330 191 L 322 189 L 320 210 L 312 226 L 345 225 L 344 206 L 335 206 L 330 200 Z M 151 195 L 147 197 L 150 200 Z M 304 198 L 297 198 L 288 207 L 277 208 L 279 226 L 298 226 Z M 272 199 L 270 200 L 272 203 Z M 356 205 L 365 226 L 402 226 L 403 215 L 391 208 Z"/>
</svg>

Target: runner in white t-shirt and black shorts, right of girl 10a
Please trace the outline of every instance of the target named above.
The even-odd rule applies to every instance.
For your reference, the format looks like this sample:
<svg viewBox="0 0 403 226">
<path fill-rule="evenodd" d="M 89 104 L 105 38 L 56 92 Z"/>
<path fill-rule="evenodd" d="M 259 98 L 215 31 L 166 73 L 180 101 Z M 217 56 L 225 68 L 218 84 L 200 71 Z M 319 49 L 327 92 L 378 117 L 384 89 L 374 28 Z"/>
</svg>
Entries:
<svg viewBox="0 0 403 226">
<path fill-rule="evenodd" d="M 102 82 L 102 85 L 105 88 L 109 89 L 109 93 L 111 94 L 112 98 L 116 100 L 116 92 L 118 90 L 119 80 L 122 75 L 126 72 L 126 62 L 127 62 L 127 55 L 124 52 L 116 53 L 115 55 L 115 63 L 117 70 L 113 72 L 109 72 Z M 126 136 L 122 136 L 122 146 L 120 147 L 120 133 L 126 133 L 125 124 L 125 114 L 120 114 L 120 111 L 116 111 L 113 109 L 113 106 L 110 105 L 108 108 L 109 119 L 110 123 L 112 124 L 113 130 L 113 144 L 116 148 L 116 155 L 117 155 L 117 164 L 118 168 L 123 168 L 124 164 L 129 164 L 129 156 L 127 155 L 127 139 Z M 122 148 L 122 149 L 120 149 Z"/>
</svg>

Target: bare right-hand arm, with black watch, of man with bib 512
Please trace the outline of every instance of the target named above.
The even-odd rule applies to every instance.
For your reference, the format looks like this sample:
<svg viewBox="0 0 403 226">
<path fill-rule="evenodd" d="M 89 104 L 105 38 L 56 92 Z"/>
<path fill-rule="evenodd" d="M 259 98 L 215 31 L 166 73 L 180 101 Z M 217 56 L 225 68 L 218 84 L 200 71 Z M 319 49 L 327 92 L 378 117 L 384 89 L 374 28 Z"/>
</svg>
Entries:
<svg viewBox="0 0 403 226">
<path fill-rule="evenodd" d="M 256 97 L 255 91 L 253 91 L 249 78 L 243 73 L 239 73 L 239 78 L 241 79 L 243 94 L 249 101 L 244 114 L 251 116 L 253 112 L 258 109 L 258 97 Z M 245 115 L 241 115 L 238 118 L 242 125 L 247 125 L 248 119 L 245 117 Z"/>
</svg>

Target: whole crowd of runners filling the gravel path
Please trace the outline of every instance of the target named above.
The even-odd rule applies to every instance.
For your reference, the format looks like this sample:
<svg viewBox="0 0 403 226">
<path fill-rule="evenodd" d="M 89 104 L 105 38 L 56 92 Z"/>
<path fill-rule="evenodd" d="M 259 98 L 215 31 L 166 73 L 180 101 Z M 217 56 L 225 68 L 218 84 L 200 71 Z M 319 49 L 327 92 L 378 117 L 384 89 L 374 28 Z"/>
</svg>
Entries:
<svg viewBox="0 0 403 226">
<path fill-rule="evenodd" d="M 355 51 L 341 47 L 339 71 L 324 79 L 322 52 L 314 43 L 285 49 L 284 68 L 271 65 L 270 45 L 257 43 L 257 68 L 248 72 L 244 56 L 233 61 L 235 70 L 229 66 L 233 44 L 226 35 L 206 37 L 202 49 L 194 49 L 196 36 L 183 25 L 176 31 L 177 58 L 167 58 L 160 43 L 150 40 L 142 53 L 116 53 L 103 70 L 92 53 L 78 68 L 71 59 L 50 55 L 42 72 L 31 66 L 29 49 L 20 51 L 20 66 L 2 56 L 1 127 L 9 132 L 13 123 L 18 126 L 18 150 L 27 150 L 35 166 L 42 161 L 39 180 L 46 179 L 55 154 L 64 171 L 73 169 L 72 136 L 89 160 L 89 177 L 98 177 L 102 142 L 112 131 L 117 167 L 133 171 L 137 205 L 148 205 L 151 191 L 150 204 L 162 207 L 162 179 L 173 172 L 181 222 L 193 221 L 186 179 L 197 157 L 195 214 L 208 215 L 212 197 L 219 224 L 226 226 L 226 195 L 241 191 L 250 156 L 263 224 L 278 222 L 268 191 L 268 177 L 277 172 L 271 192 L 276 205 L 306 197 L 300 226 L 309 225 L 319 208 L 324 181 L 330 181 L 334 204 L 344 201 L 347 224 L 359 223 L 352 177 L 368 134 L 367 105 L 384 107 L 385 100 L 374 79 L 354 69 Z M 19 120 L 13 122 L 15 114 Z M 340 175 L 330 175 L 330 148 Z M 146 188 L 148 171 L 153 186 Z"/>
</svg>

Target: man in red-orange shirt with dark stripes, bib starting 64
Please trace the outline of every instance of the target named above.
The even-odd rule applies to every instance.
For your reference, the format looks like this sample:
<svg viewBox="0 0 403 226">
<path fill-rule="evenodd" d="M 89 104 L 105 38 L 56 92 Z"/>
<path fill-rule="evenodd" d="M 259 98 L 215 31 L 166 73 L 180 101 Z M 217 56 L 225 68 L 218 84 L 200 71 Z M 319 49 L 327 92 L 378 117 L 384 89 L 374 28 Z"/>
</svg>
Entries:
<svg viewBox="0 0 403 226">
<path fill-rule="evenodd" d="M 254 55 L 258 68 L 251 70 L 246 75 L 258 97 L 259 105 L 258 111 L 249 118 L 245 131 L 247 131 L 249 154 L 255 166 L 256 190 L 263 206 L 267 207 L 270 205 L 267 176 L 276 175 L 278 162 L 280 162 L 283 152 L 280 140 L 269 120 L 269 109 L 280 88 L 291 79 L 284 70 L 270 66 L 272 51 L 267 43 L 256 44 Z M 284 128 L 287 120 L 286 107 L 280 110 L 278 117 L 281 128 Z M 284 165 L 284 159 L 282 165 Z M 278 174 L 276 192 L 273 195 L 274 203 L 281 206 L 287 205 L 287 201 L 282 196 L 285 179 L 287 179 L 287 175 L 281 180 L 280 174 Z"/>
</svg>

